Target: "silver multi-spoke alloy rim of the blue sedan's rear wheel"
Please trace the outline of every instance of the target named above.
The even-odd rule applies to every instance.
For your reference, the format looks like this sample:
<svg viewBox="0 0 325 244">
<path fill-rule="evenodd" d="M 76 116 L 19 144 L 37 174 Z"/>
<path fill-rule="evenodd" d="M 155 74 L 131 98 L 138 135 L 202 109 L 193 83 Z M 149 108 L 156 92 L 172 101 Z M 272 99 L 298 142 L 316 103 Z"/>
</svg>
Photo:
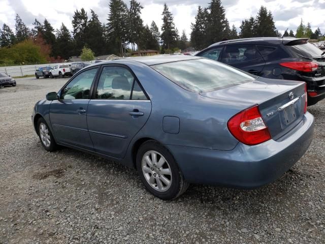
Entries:
<svg viewBox="0 0 325 244">
<path fill-rule="evenodd" d="M 150 150 L 142 158 L 142 172 L 148 184 L 159 192 L 172 185 L 172 170 L 167 160 L 157 151 Z"/>
</svg>

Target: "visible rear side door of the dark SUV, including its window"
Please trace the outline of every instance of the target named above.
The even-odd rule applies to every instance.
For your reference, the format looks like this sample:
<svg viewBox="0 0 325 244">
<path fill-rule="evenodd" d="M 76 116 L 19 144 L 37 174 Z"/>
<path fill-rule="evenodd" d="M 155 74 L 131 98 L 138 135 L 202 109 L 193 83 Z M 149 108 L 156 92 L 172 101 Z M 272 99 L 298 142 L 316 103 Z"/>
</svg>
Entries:
<svg viewBox="0 0 325 244">
<path fill-rule="evenodd" d="M 258 76 L 262 75 L 265 66 L 265 61 L 255 45 L 225 46 L 220 62 Z"/>
</svg>

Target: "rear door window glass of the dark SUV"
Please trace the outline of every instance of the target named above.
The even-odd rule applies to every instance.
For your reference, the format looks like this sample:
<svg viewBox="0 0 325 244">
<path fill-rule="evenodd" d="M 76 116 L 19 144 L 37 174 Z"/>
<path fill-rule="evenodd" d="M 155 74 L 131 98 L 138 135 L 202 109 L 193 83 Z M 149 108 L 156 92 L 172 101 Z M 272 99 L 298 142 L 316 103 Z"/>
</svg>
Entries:
<svg viewBox="0 0 325 244">
<path fill-rule="evenodd" d="M 221 62 L 225 64 L 244 63 L 254 60 L 261 55 L 254 45 L 226 46 L 221 57 Z"/>
</svg>

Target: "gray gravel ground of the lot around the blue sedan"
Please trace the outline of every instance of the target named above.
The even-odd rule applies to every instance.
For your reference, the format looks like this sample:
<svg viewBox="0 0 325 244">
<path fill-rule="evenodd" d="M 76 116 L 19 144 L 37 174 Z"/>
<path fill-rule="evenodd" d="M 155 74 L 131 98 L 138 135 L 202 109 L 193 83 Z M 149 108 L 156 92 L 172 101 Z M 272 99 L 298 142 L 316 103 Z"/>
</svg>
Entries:
<svg viewBox="0 0 325 244">
<path fill-rule="evenodd" d="M 47 153 L 32 107 L 67 79 L 17 79 L 0 90 L 0 243 L 324 243 L 325 101 L 309 108 L 314 140 L 273 184 L 190 186 L 173 201 L 137 172 L 62 148 Z"/>
</svg>

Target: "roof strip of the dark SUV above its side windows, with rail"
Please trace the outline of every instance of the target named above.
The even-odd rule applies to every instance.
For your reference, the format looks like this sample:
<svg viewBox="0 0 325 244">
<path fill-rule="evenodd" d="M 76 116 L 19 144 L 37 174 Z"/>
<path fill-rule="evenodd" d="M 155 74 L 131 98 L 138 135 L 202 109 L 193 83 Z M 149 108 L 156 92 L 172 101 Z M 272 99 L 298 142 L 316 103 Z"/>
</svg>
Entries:
<svg viewBox="0 0 325 244">
<path fill-rule="evenodd" d="M 254 43 L 254 44 L 286 44 L 295 40 L 308 40 L 306 38 L 294 38 L 294 37 L 254 37 L 254 38 L 242 38 L 242 39 L 233 39 L 226 40 L 214 43 L 209 47 L 219 46 L 219 45 L 227 45 L 227 44 L 239 44 L 239 43 Z M 209 48 L 208 47 L 208 48 Z"/>
</svg>

